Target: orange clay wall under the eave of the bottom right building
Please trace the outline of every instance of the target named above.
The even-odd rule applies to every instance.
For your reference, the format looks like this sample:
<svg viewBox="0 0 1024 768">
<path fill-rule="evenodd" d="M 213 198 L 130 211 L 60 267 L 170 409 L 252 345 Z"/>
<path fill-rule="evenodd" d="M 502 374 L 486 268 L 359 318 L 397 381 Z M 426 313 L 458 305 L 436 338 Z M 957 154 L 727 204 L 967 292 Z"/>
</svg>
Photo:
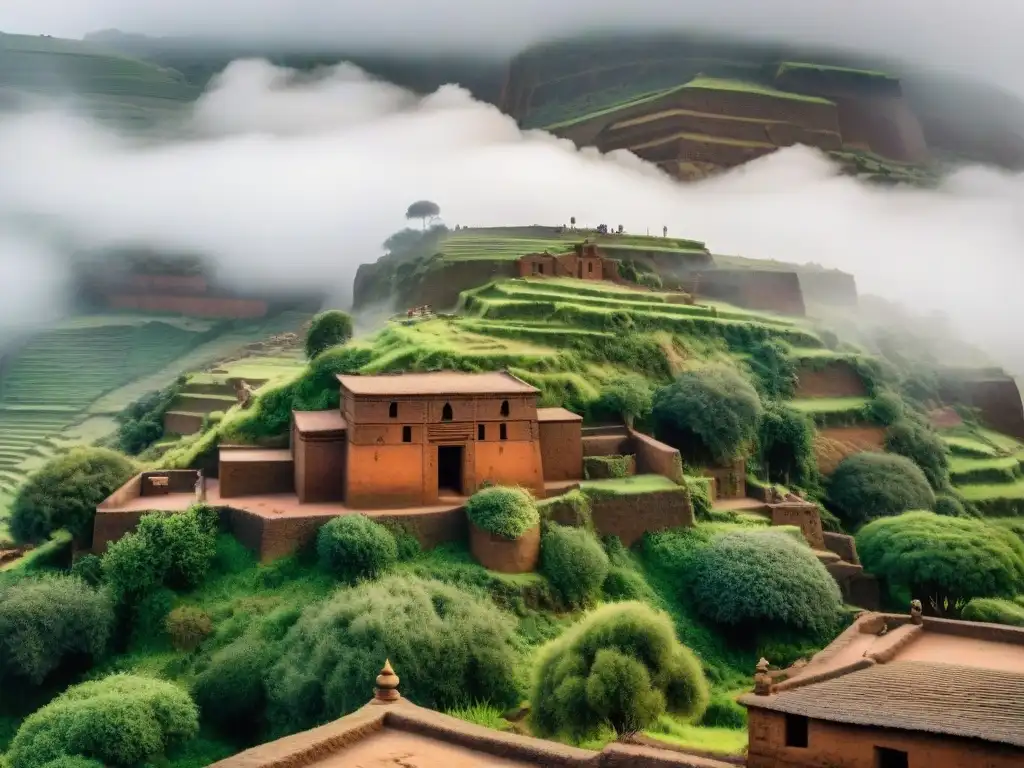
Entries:
<svg viewBox="0 0 1024 768">
<path fill-rule="evenodd" d="M 878 768 L 876 748 L 907 753 L 911 768 L 1014 768 L 1024 751 L 977 739 L 811 720 L 806 748 L 785 745 L 785 716 L 749 708 L 749 768 Z"/>
</svg>

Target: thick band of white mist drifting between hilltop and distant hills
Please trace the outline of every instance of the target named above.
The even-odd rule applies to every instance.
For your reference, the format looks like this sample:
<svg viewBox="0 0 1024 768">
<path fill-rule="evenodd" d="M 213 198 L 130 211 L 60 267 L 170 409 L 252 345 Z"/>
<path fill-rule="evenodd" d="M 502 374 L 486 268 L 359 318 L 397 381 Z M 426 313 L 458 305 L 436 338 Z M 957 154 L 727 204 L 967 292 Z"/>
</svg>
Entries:
<svg viewBox="0 0 1024 768">
<path fill-rule="evenodd" d="M 965 168 L 937 190 L 881 188 L 793 147 L 680 184 L 627 153 L 601 156 L 445 86 L 418 98 L 343 65 L 310 80 L 240 61 L 175 140 L 119 136 L 67 112 L 0 121 L 0 326 L 51 314 L 77 247 L 198 251 L 252 286 L 351 286 L 359 263 L 435 201 L 450 225 L 623 224 L 717 253 L 816 262 L 862 292 L 953 327 L 1024 369 L 1024 178 Z M 45 220 L 61 245 L 36 227 Z"/>
</svg>

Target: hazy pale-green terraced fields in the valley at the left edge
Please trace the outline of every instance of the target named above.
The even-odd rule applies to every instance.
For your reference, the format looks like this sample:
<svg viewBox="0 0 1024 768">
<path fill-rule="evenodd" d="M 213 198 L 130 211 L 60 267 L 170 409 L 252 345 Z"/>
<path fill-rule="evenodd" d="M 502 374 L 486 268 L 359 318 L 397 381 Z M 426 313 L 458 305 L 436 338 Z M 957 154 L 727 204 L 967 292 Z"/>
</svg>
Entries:
<svg viewBox="0 0 1024 768">
<path fill-rule="evenodd" d="M 249 324 L 174 316 L 100 314 L 67 321 L 11 351 L 0 368 L 0 540 L 12 496 L 27 473 L 68 447 L 117 429 L 115 416 L 182 371 L 201 370 L 308 317 L 283 312 Z M 279 362 L 233 364 L 254 379 Z M 294 371 L 296 360 L 291 360 Z M 270 368 L 270 372 L 264 371 Z M 232 369 L 233 370 L 233 369 Z M 274 373 L 276 372 L 276 373 Z M 225 408 L 230 403 L 225 403 Z"/>
</svg>

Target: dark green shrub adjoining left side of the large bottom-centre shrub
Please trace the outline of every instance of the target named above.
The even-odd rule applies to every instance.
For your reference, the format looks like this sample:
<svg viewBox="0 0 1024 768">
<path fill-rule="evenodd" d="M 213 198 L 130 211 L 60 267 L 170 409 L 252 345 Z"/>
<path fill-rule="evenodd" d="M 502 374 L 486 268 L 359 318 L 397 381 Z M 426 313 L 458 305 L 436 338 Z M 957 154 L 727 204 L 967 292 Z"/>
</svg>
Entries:
<svg viewBox="0 0 1024 768">
<path fill-rule="evenodd" d="M 217 651 L 193 683 L 204 722 L 231 735 L 259 731 L 266 710 L 263 676 L 273 662 L 270 646 L 250 638 Z"/>
</svg>

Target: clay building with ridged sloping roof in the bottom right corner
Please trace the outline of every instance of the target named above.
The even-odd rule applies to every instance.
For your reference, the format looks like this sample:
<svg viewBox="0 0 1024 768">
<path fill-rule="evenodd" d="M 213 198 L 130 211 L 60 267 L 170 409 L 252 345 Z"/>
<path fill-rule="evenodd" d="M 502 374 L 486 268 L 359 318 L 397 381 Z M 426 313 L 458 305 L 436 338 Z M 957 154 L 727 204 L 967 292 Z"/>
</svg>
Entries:
<svg viewBox="0 0 1024 768">
<path fill-rule="evenodd" d="M 749 768 L 1024 766 L 1024 629 L 867 613 L 758 679 Z"/>
</svg>

